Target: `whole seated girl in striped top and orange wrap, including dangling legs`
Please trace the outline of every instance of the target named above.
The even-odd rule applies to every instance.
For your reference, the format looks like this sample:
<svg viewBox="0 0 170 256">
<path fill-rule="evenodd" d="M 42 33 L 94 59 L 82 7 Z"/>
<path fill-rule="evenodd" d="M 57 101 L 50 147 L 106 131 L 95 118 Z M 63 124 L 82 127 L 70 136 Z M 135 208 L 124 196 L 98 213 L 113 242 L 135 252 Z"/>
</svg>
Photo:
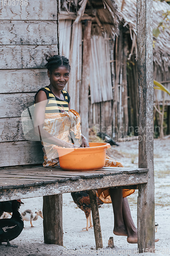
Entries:
<svg viewBox="0 0 170 256">
<path fill-rule="evenodd" d="M 89 147 L 87 139 L 81 134 L 80 116 L 76 111 L 69 110 L 70 96 L 64 90 L 69 80 L 69 61 L 59 55 L 46 57 L 46 60 L 50 85 L 36 93 L 34 114 L 35 134 L 40 135 L 43 144 L 44 167 L 59 164 L 57 146 Z M 122 164 L 107 157 L 105 166 L 122 167 Z M 130 189 L 98 189 L 99 198 L 103 202 L 112 202 L 113 233 L 127 236 L 128 243 L 137 243 L 137 229 L 126 198 L 132 193 L 134 190 Z"/>
</svg>

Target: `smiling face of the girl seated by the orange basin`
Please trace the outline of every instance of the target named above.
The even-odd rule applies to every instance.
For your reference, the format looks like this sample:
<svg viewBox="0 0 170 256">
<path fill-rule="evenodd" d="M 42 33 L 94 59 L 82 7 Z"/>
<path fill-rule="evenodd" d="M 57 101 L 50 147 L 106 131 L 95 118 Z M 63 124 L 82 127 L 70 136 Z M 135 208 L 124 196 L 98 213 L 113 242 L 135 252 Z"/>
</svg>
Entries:
<svg viewBox="0 0 170 256">
<path fill-rule="evenodd" d="M 48 70 L 47 74 L 48 74 L 48 77 L 50 78 L 51 86 L 58 91 L 63 90 L 65 87 L 65 84 L 69 80 L 69 70 L 64 66 L 54 69 L 52 73 L 50 73 L 50 71 Z"/>
</svg>

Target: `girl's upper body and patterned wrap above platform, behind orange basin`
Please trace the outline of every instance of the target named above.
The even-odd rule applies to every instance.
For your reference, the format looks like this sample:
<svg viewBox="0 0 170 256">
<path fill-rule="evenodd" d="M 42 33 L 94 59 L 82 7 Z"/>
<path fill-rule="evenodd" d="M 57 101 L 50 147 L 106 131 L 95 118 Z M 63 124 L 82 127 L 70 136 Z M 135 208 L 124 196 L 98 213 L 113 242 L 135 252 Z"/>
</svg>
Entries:
<svg viewBox="0 0 170 256">
<path fill-rule="evenodd" d="M 69 61 L 59 55 L 46 56 L 46 60 L 50 85 L 36 93 L 34 112 L 34 133 L 43 144 L 44 167 L 59 164 L 57 146 L 89 146 L 81 134 L 80 116 L 74 110 L 69 111 L 70 96 L 64 90 L 69 80 Z"/>
</svg>

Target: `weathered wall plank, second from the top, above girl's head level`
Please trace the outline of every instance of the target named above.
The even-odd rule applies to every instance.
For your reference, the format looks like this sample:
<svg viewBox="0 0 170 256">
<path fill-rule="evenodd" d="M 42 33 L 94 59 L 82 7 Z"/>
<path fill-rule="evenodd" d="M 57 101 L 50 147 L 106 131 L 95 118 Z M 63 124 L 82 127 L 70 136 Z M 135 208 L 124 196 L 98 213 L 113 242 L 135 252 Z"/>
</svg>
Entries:
<svg viewBox="0 0 170 256">
<path fill-rule="evenodd" d="M 0 20 L 1 45 L 56 45 L 56 20 Z"/>
</svg>

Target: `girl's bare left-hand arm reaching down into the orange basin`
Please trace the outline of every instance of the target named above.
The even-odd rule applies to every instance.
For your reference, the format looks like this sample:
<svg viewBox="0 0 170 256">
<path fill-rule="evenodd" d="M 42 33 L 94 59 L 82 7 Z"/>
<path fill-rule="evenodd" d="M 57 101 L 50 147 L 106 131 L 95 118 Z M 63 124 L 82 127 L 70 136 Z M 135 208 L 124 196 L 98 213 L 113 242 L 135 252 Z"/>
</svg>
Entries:
<svg viewBox="0 0 170 256">
<path fill-rule="evenodd" d="M 46 94 L 44 91 L 40 91 L 35 98 L 35 110 L 34 110 L 34 133 L 36 136 L 40 136 L 43 141 L 55 144 L 62 147 L 77 147 L 63 140 L 53 137 L 50 133 L 43 129 L 45 119 L 45 106 L 47 103 Z"/>
</svg>

